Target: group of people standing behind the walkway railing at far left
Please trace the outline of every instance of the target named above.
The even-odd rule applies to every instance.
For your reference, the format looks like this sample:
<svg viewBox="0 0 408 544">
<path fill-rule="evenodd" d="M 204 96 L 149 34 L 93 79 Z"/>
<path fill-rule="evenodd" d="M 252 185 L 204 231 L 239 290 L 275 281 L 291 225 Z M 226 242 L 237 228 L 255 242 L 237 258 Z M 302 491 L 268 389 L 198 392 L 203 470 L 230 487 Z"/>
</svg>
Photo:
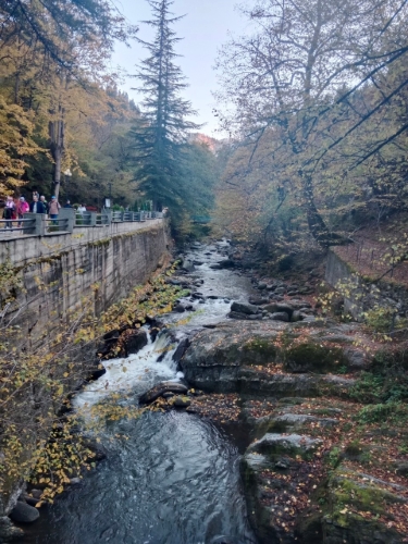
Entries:
<svg viewBox="0 0 408 544">
<path fill-rule="evenodd" d="M 64 208 L 72 208 L 69 200 Z M 53 224 L 58 224 L 57 220 L 60 209 L 61 205 L 54 196 L 51 197 L 50 202 L 47 202 L 45 196 L 39 196 L 37 191 L 34 191 L 30 203 L 26 201 L 25 197 L 13 198 L 8 196 L 3 205 L 3 219 L 7 220 L 4 228 L 12 228 L 12 222 L 17 220 L 20 220 L 17 226 L 21 227 L 24 214 L 27 212 L 47 214 Z"/>
</svg>

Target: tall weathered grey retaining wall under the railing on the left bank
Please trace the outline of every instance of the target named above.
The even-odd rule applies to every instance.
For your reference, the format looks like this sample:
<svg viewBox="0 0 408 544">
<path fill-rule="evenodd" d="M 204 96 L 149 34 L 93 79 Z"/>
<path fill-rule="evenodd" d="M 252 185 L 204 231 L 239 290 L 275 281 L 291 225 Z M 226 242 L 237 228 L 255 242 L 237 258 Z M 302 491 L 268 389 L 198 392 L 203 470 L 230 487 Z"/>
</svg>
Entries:
<svg viewBox="0 0 408 544">
<path fill-rule="evenodd" d="M 147 280 L 166 246 L 165 220 L 0 242 L 0 263 L 9 259 L 23 286 L 5 308 L 5 320 L 34 339 L 63 325 L 84 296 L 95 298 L 99 314 Z M 3 311 L 7 295 L 0 294 Z"/>
</svg>

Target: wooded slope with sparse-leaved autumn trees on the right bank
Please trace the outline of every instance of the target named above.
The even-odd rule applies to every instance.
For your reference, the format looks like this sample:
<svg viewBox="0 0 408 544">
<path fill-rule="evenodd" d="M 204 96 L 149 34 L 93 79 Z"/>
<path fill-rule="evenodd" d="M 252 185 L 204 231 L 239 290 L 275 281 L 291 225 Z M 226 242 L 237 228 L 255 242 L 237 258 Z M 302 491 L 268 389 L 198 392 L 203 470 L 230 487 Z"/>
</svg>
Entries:
<svg viewBox="0 0 408 544">
<path fill-rule="evenodd" d="M 265 0 L 243 13 L 248 33 L 218 60 L 234 136 L 222 227 L 288 254 L 405 212 L 406 2 Z"/>
</svg>

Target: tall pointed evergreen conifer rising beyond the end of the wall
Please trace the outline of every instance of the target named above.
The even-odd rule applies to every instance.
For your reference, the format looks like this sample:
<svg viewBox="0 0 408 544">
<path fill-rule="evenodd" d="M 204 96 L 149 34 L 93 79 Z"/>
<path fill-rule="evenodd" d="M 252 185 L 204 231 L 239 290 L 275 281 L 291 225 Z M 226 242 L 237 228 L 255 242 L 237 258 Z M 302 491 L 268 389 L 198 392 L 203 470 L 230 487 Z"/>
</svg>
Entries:
<svg viewBox="0 0 408 544">
<path fill-rule="evenodd" d="M 170 12 L 171 0 L 148 0 L 153 17 L 146 23 L 156 29 L 151 42 L 138 39 L 149 51 L 137 77 L 145 94 L 145 122 L 133 128 L 133 166 L 138 188 L 156 203 L 180 208 L 185 200 L 182 183 L 186 134 L 198 125 L 186 118 L 195 114 L 191 103 L 181 97 L 187 87 L 181 69 L 174 63 L 175 45 L 181 38 L 172 29 L 182 17 Z"/>
</svg>

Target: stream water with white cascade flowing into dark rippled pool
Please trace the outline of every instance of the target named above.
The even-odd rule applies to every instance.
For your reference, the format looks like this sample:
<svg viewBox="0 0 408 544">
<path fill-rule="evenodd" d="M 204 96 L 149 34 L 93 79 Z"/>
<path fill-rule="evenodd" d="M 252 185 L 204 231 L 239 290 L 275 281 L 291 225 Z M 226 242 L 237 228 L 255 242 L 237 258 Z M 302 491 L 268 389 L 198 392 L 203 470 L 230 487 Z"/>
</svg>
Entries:
<svg viewBox="0 0 408 544">
<path fill-rule="evenodd" d="M 222 259 L 215 249 L 222 251 L 225 246 L 191 250 L 189 257 L 203 262 L 190 274 L 203 281 L 198 290 L 222 298 L 195 301 L 197 311 L 187 324 L 175 327 L 176 334 L 225 319 L 230 308 L 225 298 L 247 299 L 247 279 L 210 269 Z M 174 323 L 185 316 L 172 313 L 165 320 Z M 112 392 L 123 392 L 126 399 L 132 392 L 136 403 L 156 383 L 182 379 L 172 360 L 174 349 L 162 355 L 166 344 L 164 333 L 137 355 L 107 361 L 107 373 L 76 397 L 76 406 L 86 409 Z M 41 510 L 24 542 L 256 543 L 247 522 L 237 446 L 213 423 L 183 411 L 146 412 L 137 420 L 111 423 L 102 442 L 107 459 L 52 507 Z"/>
</svg>

